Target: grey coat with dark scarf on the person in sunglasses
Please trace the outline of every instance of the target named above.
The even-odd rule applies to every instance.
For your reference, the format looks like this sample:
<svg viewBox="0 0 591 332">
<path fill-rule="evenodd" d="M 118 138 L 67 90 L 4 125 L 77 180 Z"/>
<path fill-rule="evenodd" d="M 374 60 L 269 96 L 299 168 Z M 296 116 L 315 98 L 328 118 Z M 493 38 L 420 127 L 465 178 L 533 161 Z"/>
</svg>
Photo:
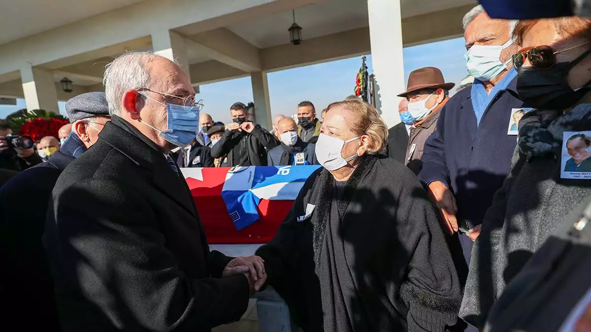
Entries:
<svg viewBox="0 0 591 332">
<path fill-rule="evenodd" d="M 560 178 L 563 132 L 591 131 L 591 105 L 535 110 L 519 123 L 511 172 L 486 211 L 472 250 L 460 317 L 484 326 L 505 285 L 563 218 L 591 194 L 591 180 Z"/>
</svg>

